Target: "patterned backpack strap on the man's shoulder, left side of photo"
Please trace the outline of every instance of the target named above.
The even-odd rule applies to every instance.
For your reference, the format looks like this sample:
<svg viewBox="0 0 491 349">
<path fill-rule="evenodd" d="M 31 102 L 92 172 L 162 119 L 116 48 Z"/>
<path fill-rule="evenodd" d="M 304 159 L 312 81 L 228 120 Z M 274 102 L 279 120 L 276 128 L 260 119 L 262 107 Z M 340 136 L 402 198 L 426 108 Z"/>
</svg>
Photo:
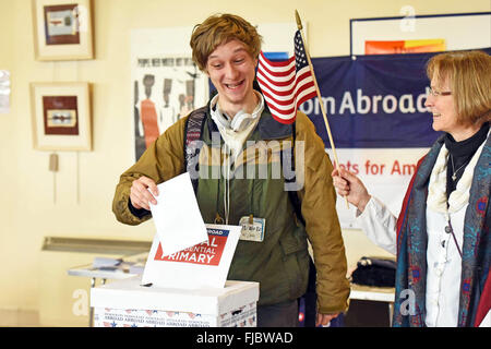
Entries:
<svg viewBox="0 0 491 349">
<path fill-rule="evenodd" d="M 207 107 L 202 107 L 193 110 L 184 125 L 184 168 L 188 172 L 197 172 L 199 157 L 201 146 L 196 141 L 200 141 L 203 134 L 204 119 L 206 117 Z M 194 193 L 197 190 L 197 178 L 191 178 Z"/>
</svg>

